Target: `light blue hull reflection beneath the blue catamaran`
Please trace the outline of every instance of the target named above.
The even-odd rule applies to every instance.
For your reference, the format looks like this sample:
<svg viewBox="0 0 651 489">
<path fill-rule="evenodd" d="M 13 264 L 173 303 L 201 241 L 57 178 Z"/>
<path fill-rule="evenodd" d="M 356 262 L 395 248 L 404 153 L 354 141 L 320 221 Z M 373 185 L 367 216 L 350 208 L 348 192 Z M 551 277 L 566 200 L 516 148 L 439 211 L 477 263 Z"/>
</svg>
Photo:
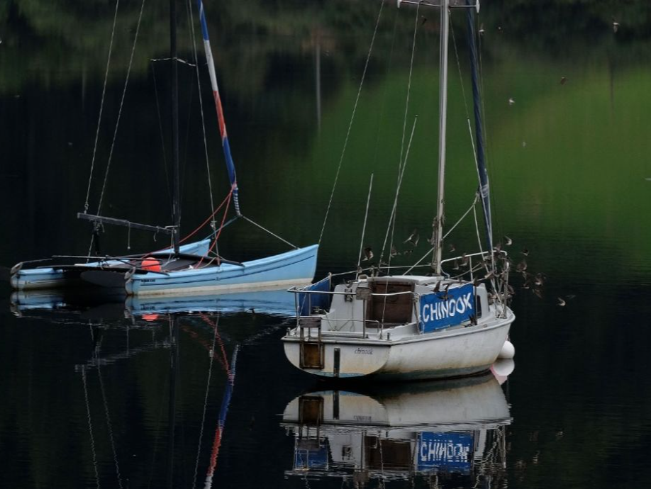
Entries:
<svg viewBox="0 0 651 489">
<path fill-rule="evenodd" d="M 70 291 L 19 291 L 11 294 L 11 309 L 16 315 L 29 311 L 96 310 L 106 318 L 143 316 L 157 313 L 257 313 L 292 315 L 296 305 L 294 295 L 284 288 L 250 290 L 234 293 L 198 296 L 138 297 L 124 293 L 71 293 Z"/>
</svg>

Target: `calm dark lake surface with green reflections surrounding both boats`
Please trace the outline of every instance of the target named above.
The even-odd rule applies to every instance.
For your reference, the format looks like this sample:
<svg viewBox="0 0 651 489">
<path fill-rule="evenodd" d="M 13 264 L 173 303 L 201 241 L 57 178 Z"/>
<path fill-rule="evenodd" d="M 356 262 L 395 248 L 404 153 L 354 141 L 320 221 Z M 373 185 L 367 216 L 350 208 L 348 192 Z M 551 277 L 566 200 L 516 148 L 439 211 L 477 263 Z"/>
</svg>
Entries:
<svg viewBox="0 0 651 489">
<path fill-rule="evenodd" d="M 413 254 L 396 259 L 416 261 L 435 213 L 438 11 L 397 10 L 394 1 L 381 16 L 379 1 L 206 3 L 243 213 L 295 245 L 317 242 L 341 160 L 317 276 L 355 269 L 370 176 L 364 245 L 379 255 L 403 128 L 408 140 L 418 115 L 394 238 L 403 250 L 420 230 Z M 482 4 L 495 236 L 513 239 L 514 262 L 526 249 L 528 270 L 547 276 L 542 298 L 513 278 L 508 380 L 318 383 L 284 358 L 289 293 L 208 298 L 172 314 L 169 303 L 145 300 L 73 307 L 64 296 L 17 297 L 2 283 L 0 485 L 646 487 L 651 6 L 613 5 Z M 194 62 L 187 9 L 178 7 L 179 57 Z M 169 64 L 150 61 L 167 57 L 167 2 L 147 2 L 140 28 L 139 12 L 140 2 L 120 4 L 102 103 L 113 2 L 0 6 L 0 265 L 87 254 L 90 227 L 76 215 L 85 203 L 98 208 L 111 152 L 102 213 L 171 223 Z M 464 14 L 453 11 L 452 23 L 447 227 L 477 186 Z M 201 53 L 199 68 L 217 205 L 228 181 Z M 186 232 L 213 208 L 194 74 L 180 68 Z M 101 239 L 116 254 L 166 245 L 121 228 Z M 474 251 L 471 221 L 452 243 Z M 243 220 L 220 247 L 238 261 L 287 248 Z M 335 405 L 339 422 L 317 430 L 309 406 L 328 417 Z M 423 461 L 414 447 L 443 440 L 465 457 L 433 471 L 435 456 Z"/>
</svg>

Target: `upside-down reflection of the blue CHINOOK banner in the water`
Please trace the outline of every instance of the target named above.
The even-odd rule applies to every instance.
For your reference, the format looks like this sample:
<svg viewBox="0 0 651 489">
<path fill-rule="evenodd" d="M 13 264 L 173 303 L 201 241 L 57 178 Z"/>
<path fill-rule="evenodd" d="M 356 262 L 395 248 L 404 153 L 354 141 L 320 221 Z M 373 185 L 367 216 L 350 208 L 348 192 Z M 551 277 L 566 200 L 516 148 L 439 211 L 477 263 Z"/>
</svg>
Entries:
<svg viewBox="0 0 651 489">
<path fill-rule="evenodd" d="M 472 463 L 472 434 L 432 433 L 418 434 L 418 470 L 433 468 L 447 472 L 469 473 Z"/>
</svg>

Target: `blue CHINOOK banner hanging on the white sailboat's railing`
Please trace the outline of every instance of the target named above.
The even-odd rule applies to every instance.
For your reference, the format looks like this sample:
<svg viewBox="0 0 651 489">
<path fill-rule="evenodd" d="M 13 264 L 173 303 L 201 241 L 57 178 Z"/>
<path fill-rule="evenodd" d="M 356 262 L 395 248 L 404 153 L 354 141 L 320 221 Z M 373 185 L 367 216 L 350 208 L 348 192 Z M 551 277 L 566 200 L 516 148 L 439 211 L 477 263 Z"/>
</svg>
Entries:
<svg viewBox="0 0 651 489">
<path fill-rule="evenodd" d="M 472 283 L 451 288 L 447 293 L 434 292 L 421 296 L 421 332 L 458 325 L 475 315 Z"/>
</svg>

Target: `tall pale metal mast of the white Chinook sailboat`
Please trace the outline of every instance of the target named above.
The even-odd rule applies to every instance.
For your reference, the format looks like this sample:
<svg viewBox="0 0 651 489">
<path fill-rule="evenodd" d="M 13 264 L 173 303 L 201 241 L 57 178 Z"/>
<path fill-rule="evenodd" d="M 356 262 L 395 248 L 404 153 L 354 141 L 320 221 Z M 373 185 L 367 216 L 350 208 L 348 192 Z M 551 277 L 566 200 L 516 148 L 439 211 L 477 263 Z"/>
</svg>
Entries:
<svg viewBox="0 0 651 489">
<path fill-rule="evenodd" d="M 443 252 L 443 215 L 445 205 L 445 131 L 447 129 L 447 38 L 450 11 L 448 0 L 441 0 L 440 25 L 440 81 L 439 81 L 439 130 L 438 130 L 438 197 L 436 205 L 434 264 L 441 274 Z"/>
</svg>

